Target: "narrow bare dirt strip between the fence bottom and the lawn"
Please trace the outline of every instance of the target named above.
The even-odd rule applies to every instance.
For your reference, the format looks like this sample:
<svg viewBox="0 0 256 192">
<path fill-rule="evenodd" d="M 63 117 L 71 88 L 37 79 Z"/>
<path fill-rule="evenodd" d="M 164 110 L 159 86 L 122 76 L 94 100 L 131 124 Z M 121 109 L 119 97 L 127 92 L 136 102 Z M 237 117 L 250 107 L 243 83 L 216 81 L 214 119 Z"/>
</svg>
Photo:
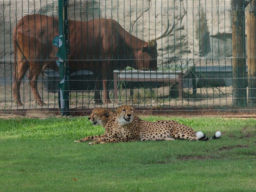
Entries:
<svg viewBox="0 0 256 192">
<path fill-rule="evenodd" d="M 97 106 L 103 107 L 103 106 Z M 113 109 L 113 107 L 110 107 Z M 91 113 L 93 108 L 71 108 L 71 116 L 87 116 Z M 114 110 L 114 109 L 113 109 Z M 256 118 L 256 108 L 255 109 L 241 109 L 232 108 L 225 110 L 217 110 L 214 108 L 138 108 L 137 113 L 139 116 L 179 116 L 184 118 L 193 117 L 223 117 L 223 118 Z M 48 118 L 48 117 L 60 117 L 60 112 L 58 108 L 41 108 L 41 109 L 2 109 L 0 110 L 0 118 Z"/>
</svg>

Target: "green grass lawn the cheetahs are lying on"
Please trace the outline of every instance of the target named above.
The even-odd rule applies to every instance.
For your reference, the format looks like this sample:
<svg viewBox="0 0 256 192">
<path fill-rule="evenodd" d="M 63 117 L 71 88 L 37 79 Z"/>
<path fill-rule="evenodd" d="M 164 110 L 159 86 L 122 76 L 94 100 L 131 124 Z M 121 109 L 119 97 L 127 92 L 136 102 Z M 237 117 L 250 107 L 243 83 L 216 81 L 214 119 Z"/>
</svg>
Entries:
<svg viewBox="0 0 256 192">
<path fill-rule="evenodd" d="M 100 144 L 86 117 L 0 119 L 0 191 L 256 191 L 256 120 L 174 119 L 218 140 Z"/>
</svg>

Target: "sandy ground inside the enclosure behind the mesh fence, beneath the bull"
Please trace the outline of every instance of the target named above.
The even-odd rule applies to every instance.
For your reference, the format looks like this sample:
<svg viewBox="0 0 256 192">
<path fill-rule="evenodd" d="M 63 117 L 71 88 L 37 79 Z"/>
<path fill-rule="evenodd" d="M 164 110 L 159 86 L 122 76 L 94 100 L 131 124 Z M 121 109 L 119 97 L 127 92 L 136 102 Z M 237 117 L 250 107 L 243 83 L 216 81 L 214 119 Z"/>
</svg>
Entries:
<svg viewBox="0 0 256 192">
<path fill-rule="evenodd" d="M 29 82 L 23 82 L 20 88 L 21 100 L 24 104 L 17 107 L 13 99 L 10 85 L 0 85 L 0 109 L 34 109 L 34 108 L 58 108 L 58 93 L 48 92 L 42 83 L 38 83 L 39 94 L 44 101 L 44 106 L 35 104 L 33 92 Z M 123 104 L 142 107 L 164 107 L 164 108 L 191 108 L 191 107 L 232 107 L 232 87 L 220 88 L 197 88 L 197 93 L 193 94 L 192 89 L 183 89 L 183 98 L 169 98 L 169 86 L 150 89 L 135 88 L 133 96 L 130 97 L 129 89 L 118 91 L 118 100 L 114 101 L 113 91 L 110 91 L 111 104 L 96 105 L 94 102 L 94 90 L 72 91 L 70 93 L 70 108 L 95 108 L 95 107 L 118 107 Z"/>
</svg>

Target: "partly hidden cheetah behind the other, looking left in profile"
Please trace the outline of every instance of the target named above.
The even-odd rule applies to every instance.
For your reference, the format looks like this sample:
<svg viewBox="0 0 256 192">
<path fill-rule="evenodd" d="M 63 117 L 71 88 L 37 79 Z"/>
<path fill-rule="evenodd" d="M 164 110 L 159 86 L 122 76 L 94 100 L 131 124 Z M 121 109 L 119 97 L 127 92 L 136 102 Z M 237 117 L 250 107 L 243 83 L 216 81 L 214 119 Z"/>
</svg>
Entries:
<svg viewBox="0 0 256 192">
<path fill-rule="evenodd" d="M 113 131 L 112 124 L 115 122 L 116 112 L 106 108 L 95 108 L 89 115 L 88 119 L 94 126 L 100 125 L 101 127 L 104 127 L 105 133 L 102 135 L 87 136 L 74 142 L 95 141 L 101 137 L 110 136 Z"/>
</svg>

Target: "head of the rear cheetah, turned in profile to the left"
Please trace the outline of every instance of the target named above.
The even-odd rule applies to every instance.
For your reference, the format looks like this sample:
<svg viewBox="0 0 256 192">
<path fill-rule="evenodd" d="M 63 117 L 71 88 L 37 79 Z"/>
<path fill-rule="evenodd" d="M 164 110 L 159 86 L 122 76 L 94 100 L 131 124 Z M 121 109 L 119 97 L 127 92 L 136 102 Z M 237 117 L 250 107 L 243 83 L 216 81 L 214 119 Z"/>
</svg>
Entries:
<svg viewBox="0 0 256 192">
<path fill-rule="evenodd" d="M 104 127 L 106 122 L 108 122 L 109 114 L 109 109 L 95 108 L 89 115 L 88 119 L 91 123 L 93 123 L 94 126 L 101 125 Z"/>
</svg>

